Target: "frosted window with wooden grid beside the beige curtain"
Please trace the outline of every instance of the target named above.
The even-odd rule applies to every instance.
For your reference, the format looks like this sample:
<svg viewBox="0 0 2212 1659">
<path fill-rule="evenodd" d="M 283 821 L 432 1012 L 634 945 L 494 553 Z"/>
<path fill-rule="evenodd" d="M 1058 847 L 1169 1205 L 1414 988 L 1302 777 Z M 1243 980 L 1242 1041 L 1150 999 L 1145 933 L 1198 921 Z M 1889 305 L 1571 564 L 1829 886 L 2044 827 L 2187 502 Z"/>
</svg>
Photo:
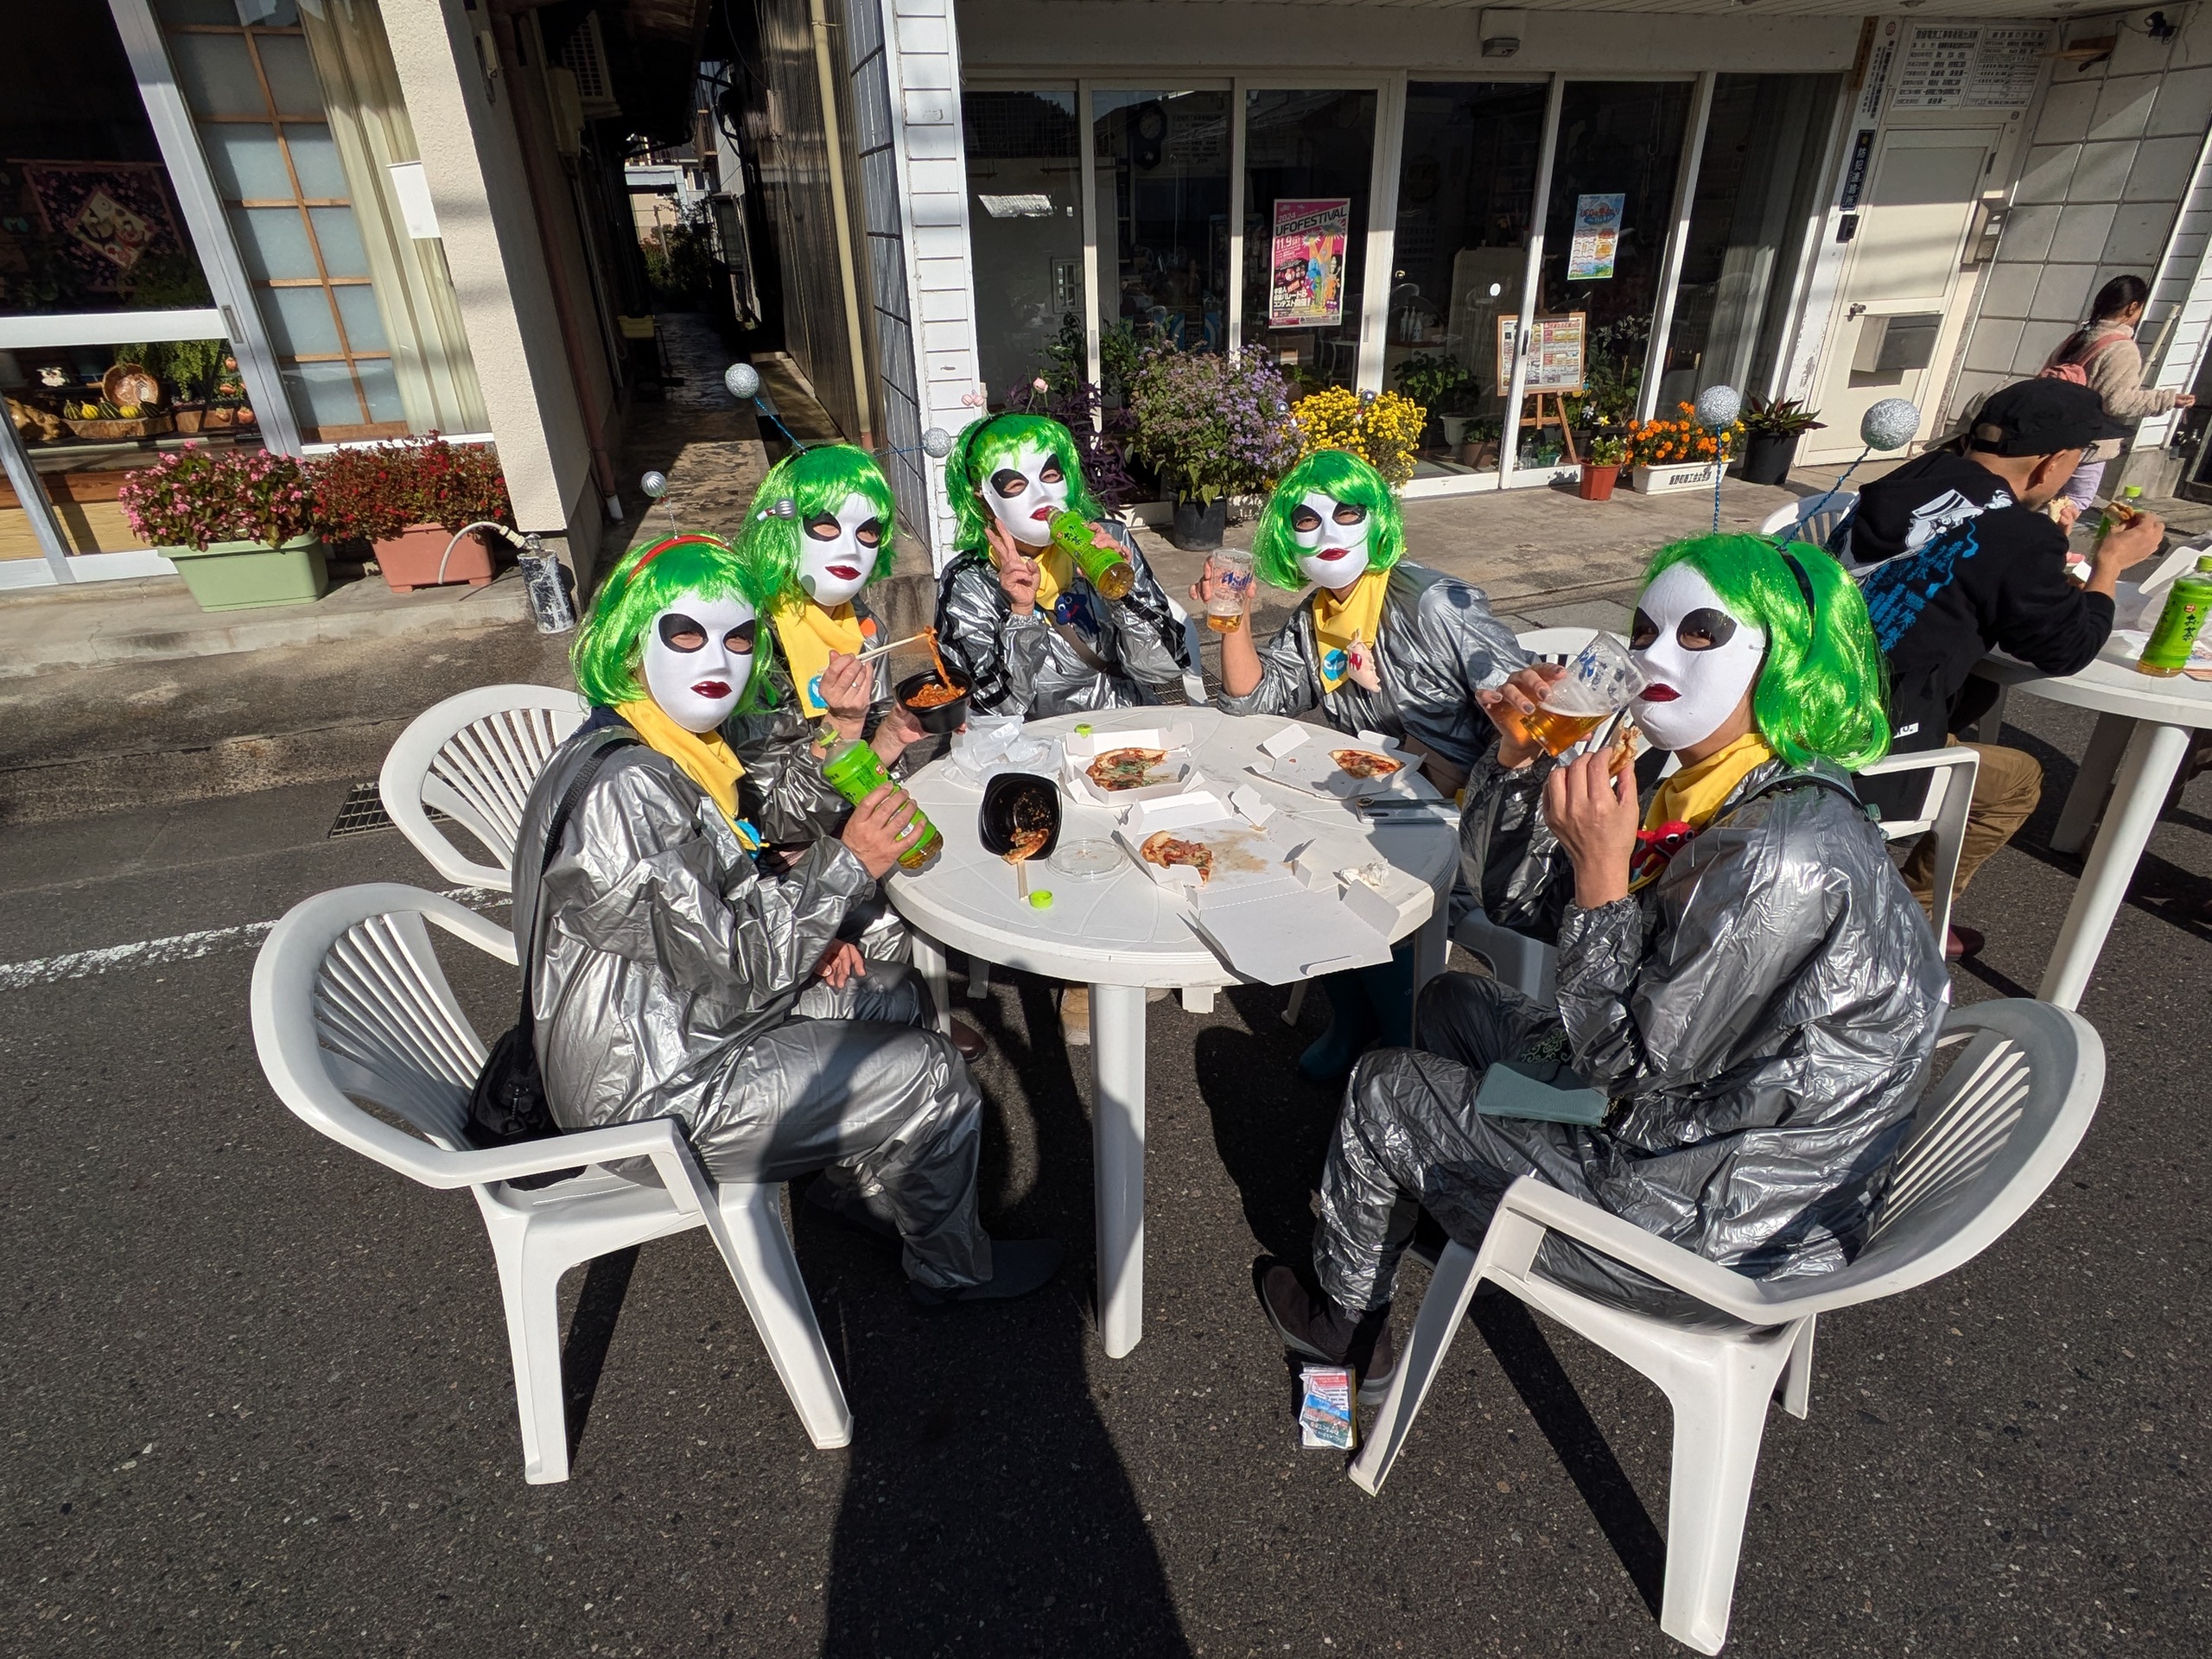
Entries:
<svg viewBox="0 0 2212 1659">
<path fill-rule="evenodd" d="M 159 0 L 279 369 L 310 442 L 407 431 L 367 250 L 294 0 Z"/>
</svg>

